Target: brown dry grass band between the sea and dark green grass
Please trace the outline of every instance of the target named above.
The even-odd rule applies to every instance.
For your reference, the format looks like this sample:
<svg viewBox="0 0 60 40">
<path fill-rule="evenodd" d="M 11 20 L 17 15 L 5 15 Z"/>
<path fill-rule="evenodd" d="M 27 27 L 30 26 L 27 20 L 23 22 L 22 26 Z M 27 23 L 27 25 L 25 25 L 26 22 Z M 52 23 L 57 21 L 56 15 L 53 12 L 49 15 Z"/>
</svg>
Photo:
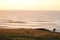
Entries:
<svg viewBox="0 0 60 40">
<path fill-rule="evenodd" d="M 60 33 L 56 32 L 49 32 L 43 30 L 36 30 L 36 29 L 0 29 L 0 33 L 16 33 L 21 35 L 33 35 L 33 36 L 60 36 Z"/>
</svg>

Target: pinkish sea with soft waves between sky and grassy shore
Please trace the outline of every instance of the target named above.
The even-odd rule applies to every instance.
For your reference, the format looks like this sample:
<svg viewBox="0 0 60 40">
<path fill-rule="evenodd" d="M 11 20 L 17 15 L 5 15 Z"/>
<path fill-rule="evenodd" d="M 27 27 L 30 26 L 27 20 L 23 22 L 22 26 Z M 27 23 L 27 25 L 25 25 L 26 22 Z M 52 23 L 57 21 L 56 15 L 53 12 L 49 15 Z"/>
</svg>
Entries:
<svg viewBox="0 0 60 40">
<path fill-rule="evenodd" d="M 0 11 L 0 28 L 56 28 L 60 32 L 60 11 Z"/>
</svg>

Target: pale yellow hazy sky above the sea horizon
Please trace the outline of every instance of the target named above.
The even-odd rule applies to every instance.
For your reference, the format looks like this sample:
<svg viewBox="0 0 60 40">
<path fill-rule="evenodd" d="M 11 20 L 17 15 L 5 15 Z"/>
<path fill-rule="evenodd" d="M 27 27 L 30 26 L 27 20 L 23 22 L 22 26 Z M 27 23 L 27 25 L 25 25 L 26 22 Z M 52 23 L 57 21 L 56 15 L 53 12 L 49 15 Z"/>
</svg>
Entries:
<svg viewBox="0 0 60 40">
<path fill-rule="evenodd" d="M 60 0 L 0 0 L 0 10 L 60 10 Z"/>
</svg>

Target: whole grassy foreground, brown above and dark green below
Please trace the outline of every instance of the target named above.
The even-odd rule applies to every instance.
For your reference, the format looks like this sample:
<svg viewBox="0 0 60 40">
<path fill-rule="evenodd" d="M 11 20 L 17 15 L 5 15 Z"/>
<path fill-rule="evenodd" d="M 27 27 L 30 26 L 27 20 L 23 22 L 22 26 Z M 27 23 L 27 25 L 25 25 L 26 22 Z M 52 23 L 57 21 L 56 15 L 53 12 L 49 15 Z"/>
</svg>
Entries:
<svg viewBox="0 0 60 40">
<path fill-rule="evenodd" d="M 0 29 L 0 40 L 60 40 L 60 33 L 33 29 Z"/>
</svg>

